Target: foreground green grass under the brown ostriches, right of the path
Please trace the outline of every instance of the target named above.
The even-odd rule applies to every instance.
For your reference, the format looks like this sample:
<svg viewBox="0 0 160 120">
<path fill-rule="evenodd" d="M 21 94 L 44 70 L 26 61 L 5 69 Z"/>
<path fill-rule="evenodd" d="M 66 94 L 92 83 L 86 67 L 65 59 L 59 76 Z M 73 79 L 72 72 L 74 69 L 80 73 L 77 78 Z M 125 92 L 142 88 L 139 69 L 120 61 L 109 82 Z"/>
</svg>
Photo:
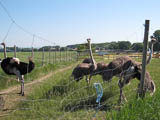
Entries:
<svg viewBox="0 0 160 120">
<path fill-rule="evenodd" d="M 77 83 L 69 78 L 72 68 L 57 73 L 44 84 L 35 87 L 27 99 L 19 103 L 16 110 L 1 119 L 158 120 L 160 118 L 159 62 L 160 59 L 153 59 L 147 66 L 157 89 L 152 97 L 147 94 L 144 100 L 136 99 L 136 88 L 139 81 L 134 79 L 130 85 L 124 87 L 128 103 L 118 106 L 117 78 L 113 78 L 111 83 L 105 83 L 100 76 L 95 76 L 90 85 L 87 85 L 84 79 Z M 104 89 L 101 100 L 102 107 L 97 113 L 95 110 L 97 103 L 94 82 L 102 83 Z M 93 118 L 95 113 L 96 118 Z"/>
</svg>

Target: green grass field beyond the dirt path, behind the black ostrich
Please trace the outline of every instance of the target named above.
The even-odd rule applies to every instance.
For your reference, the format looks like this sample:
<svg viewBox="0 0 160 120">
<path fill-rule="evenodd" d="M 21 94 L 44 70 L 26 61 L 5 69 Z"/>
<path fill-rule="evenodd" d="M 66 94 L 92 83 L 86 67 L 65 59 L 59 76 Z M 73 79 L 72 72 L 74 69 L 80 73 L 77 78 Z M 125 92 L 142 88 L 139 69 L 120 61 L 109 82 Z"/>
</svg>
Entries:
<svg viewBox="0 0 160 120">
<path fill-rule="evenodd" d="M 17 57 L 22 62 L 28 62 L 28 56 L 30 55 L 31 55 L 30 52 L 17 52 Z M 7 56 L 13 57 L 14 53 L 8 52 Z M 0 58 L 3 59 L 2 52 L 0 53 Z M 42 65 L 42 52 L 34 53 L 35 69 L 31 73 L 25 75 L 25 82 L 33 81 L 34 79 L 40 78 L 51 71 L 55 71 L 57 68 L 62 68 L 64 66 L 67 66 L 75 62 L 76 53 L 72 51 L 68 52 L 67 54 L 66 52 L 61 52 L 61 60 L 60 60 L 60 52 L 56 52 L 56 59 L 55 59 L 55 52 L 51 52 L 50 57 L 49 57 L 49 52 L 45 52 L 44 58 L 45 59 Z M 7 75 L 3 72 L 2 69 L 0 69 L 0 82 L 1 82 L 0 90 L 19 84 L 16 76 Z"/>
</svg>

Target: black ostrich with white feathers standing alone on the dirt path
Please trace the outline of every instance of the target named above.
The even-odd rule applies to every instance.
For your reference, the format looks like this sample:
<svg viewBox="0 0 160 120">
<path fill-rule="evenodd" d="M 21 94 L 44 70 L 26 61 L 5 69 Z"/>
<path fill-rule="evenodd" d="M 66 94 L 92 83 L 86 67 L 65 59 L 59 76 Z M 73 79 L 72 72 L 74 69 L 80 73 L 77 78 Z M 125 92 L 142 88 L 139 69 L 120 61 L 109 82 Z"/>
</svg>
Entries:
<svg viewBox="0 0 160 120">
<path fill-rule="evenodd" d="M 32 57 L 29 57 L 29 64 L 21 62 L 18 58 L 7 57 L 5 43 L 1 43 L 4 47 L 4 59 L 1 61 L 2 70 L 8 75 L 16 75 L 21 81 L 20 94 L 24 96 L 24 75 L 30 73 L 35 65 L 32 62 Z"/>
</svg>

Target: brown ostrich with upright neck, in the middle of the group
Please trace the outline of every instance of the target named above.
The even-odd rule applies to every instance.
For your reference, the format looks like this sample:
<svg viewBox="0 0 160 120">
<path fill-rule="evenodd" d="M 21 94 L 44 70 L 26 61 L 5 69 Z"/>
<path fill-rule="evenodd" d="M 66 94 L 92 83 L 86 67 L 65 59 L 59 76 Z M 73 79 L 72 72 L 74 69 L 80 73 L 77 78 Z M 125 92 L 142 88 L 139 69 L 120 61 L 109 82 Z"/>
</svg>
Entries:
<svg viewBox="0 0 160 120">
<path fill-rule="evenodd" d="M 83 63 L 78 64 L 74 68 L 71 76 L 73 76 L 76 81 L 79 81 L 83 78 L 83 76 L 86 76 L 86 81 L 89 83 L 88 75 L 91 74 L 96 69 L 97 65 L 95 63 L 95 60 L 93 59 L 90 39 L 87 39 L 87 42 L 89 46 L 91 63 L 88 63 L 88 61 L 90 61 L 89 58 L 86 59 L 87 62 L 84 60 Z"/>
</svg>

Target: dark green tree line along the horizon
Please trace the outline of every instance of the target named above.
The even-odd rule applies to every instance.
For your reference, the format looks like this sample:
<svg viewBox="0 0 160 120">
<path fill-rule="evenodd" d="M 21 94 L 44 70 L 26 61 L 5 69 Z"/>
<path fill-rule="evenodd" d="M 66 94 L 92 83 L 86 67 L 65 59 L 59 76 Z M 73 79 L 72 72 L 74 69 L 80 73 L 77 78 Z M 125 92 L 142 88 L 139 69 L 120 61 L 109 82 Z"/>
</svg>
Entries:
<svg viewBox="0 0 160 120">
<path fill-rule="evenodd" d="M 152 37 L 157 39 L 157 43 L 154 45 L 154 51 L 160 51 L 160 30 L 156 30 Z M 150 43 L 149 43 L 150 45 Z M 7 47 L 7 52 L 13 52 L 14 47 Z M 88 44 L 75 44 L 75 45 L 67 45 L 66 47 L 60 46 L 43 46 L 41 48 L 33 48 L 34 51 L 65 51 L 65 50 L 78 50 L 78 51 L 85 51 L 88 49 Z M 93 43 L 92 50 L 134 50 L 141 52 L 143 50 L 143 43 L 131 43 L 130 41 L 118 41 L 118 42 L 106 42 L 106 43 Z M 3 49 L 0 49 L 2 52 Z M 16 47 L 17 52 L 31 52 L 32 48 L 19 48 Z"/>
</svg>

